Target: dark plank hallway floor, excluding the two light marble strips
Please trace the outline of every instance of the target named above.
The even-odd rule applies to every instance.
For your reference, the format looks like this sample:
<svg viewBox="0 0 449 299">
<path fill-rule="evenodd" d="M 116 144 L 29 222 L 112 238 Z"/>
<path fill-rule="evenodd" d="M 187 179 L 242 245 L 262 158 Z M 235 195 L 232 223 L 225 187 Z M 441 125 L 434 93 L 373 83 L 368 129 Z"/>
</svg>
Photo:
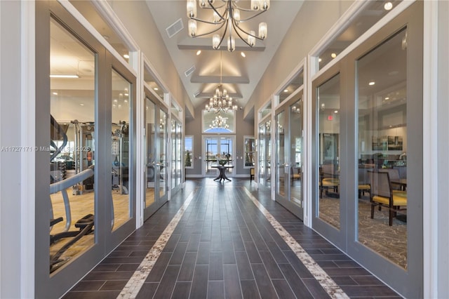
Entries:
<svg viewBox="0 0 449 299">
<path fill-rule="evenodd" d="M 401 298 L 257 191 L 249 180 L 187 180 L 183 190 L 64 298 L 117 298 L 189 194 L 195 192 L 137 298 L 330 298 L 322 281 L 250 200 L 247 188 L 350 298 Z M 343 295 L 344 295 L 343 293 Z"/>
</svg>

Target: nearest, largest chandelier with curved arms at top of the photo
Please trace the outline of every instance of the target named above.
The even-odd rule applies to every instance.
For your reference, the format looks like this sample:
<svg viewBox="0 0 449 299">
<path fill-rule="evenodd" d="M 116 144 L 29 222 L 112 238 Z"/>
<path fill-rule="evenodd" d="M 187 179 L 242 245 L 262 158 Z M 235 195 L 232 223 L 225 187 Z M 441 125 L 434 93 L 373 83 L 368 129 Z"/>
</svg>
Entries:
<svg viewBox="0 0 449 299">
<path fill-rule="evenodd" d="M 251 20 L 257 15 L 264 13 L 269 8 L 269 0 L 251 0 L 250 8 L 241 8 L 237 5 L 239 0 L 222 0 L 224 4 L 214 6 L 214 0 L 199 0 L 199 7 L 213 10 L 212 20 L 201 20 L 196 18 L 196 0 L 187 0 L 187 16 L 189 20 L 189 35 L 192 37 L 205 36 L 208 34 L 213 34 L 215 32 L 220 32 L 220 34 L 215 33 L 212 36 L 212 47 L 217 50 L 220 48 L 223 39 L 225 39 L 226 33 L 229 32 L 227 36 L 227 50 L 232 52 L 236 48 L 235 33 L 239 38 L 245 42 L 250 47 L 255 46 L 255 40 L 260 39 L 261 41 L 267 38 L 267 23 L 260 22 L 259 32 L 256 35 L 254 30 L 249 32 L 243 30 L 240 27 L 241 22 L 246 22 Z M 241 11 L 245 13 L 253 13 L 248 18 L 241 18 Z M 243 14 L 242 14 L 243 16 Z M 212 24 L 215 27 L 204 34 L 196 34 L 196 21 Z M 222 30 L 220 30 L 222 29 Z M 246 38 L 246 39 L 245 39 Z"/>
</svg>

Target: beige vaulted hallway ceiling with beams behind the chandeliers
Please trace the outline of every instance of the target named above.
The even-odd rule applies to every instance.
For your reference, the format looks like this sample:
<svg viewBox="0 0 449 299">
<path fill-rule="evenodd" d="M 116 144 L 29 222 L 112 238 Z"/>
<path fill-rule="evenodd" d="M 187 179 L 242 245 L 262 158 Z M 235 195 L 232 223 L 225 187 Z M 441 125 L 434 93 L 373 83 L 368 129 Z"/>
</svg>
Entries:
<svg viewBox="0 0 449 299">
<path fill-rule="evenodd" d="M 236 105 L 245 107 L 302 3 L 296 0 L 272 0 L 269 10 L 248 22 L 241 22 L 241 27 L 246 31 L 254 30 L 256 34 L 258 24 L 266 22 L 267 39 L 257 40 L 256 45 L 250 48 L 234 34 L 236 50 L 229 52 L 226 41 L 223 41 L 220 49 L 213 49 L 212 34 L 196 38 L 189 36 L 186 0 L 147 0 L 149 11 L 194 107 L 206 105 L 220 82 Z M 214 6 L 222 4 L 224 1 L 216 0 Z M 250 8 L 248 0 L 237 1 L 237 4 L 241 8 Z M 197 4 L 197 11 L 199 18 L 212 19 L 211 9 L 200 8 Z M 253 14 L 241 11 L 241 18 Z M 206 32 L 207 28 L 207 25 L 198 22 L 198 34 Z M 176 33 L 170 37 L 169 32 L 170 35 Z M 197 55 L 199 50 L 201 53 Z"/>
</svg>

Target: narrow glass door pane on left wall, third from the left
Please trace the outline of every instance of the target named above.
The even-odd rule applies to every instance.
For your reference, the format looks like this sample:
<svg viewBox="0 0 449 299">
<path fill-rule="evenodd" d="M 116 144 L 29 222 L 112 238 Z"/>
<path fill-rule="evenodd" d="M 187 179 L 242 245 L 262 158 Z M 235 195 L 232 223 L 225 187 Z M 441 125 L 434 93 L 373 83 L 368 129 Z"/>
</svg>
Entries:
<svg viewBox="0 0 449 299">
<path fill-rule="evenodd" d="M 147 184 L 145 187 L 145 207 L 154 203 L 154 184 L 156 178 L 156 105 L 149 98 L 145 100 L 145 164 L 147 165 Z"/>
</svg>

